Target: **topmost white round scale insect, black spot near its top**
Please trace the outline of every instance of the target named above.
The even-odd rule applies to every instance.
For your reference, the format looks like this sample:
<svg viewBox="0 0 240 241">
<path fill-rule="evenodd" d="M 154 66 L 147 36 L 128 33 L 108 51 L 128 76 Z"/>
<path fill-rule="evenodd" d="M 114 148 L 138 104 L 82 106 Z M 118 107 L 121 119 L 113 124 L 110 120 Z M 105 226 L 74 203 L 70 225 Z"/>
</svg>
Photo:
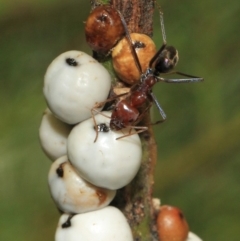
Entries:
<svg viewBox="0 0 240 241">
<path fill-rule="evenodd" d="M 90 55 L 72 50 L 49 65 L 43 93 L 54 115 L 76 124 L 91 116 L 91 109 L 107 99 L 110 88 L 108 71 Z"/>
</svg>

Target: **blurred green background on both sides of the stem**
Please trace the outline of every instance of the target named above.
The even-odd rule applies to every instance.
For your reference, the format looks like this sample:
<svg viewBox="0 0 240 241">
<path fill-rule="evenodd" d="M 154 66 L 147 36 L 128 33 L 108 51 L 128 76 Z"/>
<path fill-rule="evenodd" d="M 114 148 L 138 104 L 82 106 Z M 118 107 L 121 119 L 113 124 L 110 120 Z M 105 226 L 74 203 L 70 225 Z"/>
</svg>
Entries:
<svg viewBox="0 0 240 241">
<path fill-rule="evenodd" d="M 89 1 L 0 0 L 0 240 L 53 240 L 50 161 L 38 142 L 43 76 L 60 53 L 90 53 Z M 229 2 L 230 3 L 230 2 Z M 177 70 L 204 83 L 158 84 L 168 120 L 154 128 L 155 196 L 180 207 L 205 241 L 240 239 L 240 2 L 160 1 Z M 162 43 L 156 13 L 154 40 Z M 158 115 L 156 114 L 156 118 Z"/>
</svg>

